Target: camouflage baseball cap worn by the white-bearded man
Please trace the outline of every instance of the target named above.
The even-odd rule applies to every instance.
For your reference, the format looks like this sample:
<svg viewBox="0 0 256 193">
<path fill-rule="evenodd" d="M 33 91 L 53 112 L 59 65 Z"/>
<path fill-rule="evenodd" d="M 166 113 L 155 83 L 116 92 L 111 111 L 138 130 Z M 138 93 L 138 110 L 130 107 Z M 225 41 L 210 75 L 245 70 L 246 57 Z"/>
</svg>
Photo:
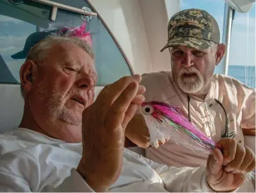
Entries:
<svg viewBox="0 0 256 193">
<path fill-rule="evenodd" d="M 220 42 L 219 26 L 208 12 L 191 8 L 176 13 L 168 23 L 168 42 L 161 49 L 187 46 L 208 49 Z"/>
</svg>

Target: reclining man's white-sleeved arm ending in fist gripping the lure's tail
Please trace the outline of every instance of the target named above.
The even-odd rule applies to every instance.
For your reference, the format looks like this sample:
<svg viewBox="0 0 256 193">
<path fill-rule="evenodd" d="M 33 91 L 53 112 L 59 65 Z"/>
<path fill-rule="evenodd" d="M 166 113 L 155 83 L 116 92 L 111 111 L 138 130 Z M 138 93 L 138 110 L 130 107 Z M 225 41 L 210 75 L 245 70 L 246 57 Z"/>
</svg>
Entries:
<svg viewBox="0 0 256 193">
<path fill-rule="evenodd" d="M 212 151 L 206 168 L 168 167 L 144 159 L 162 178 L 168 191 L 213 192 L 214 189 L 215 192 L 234 192 L 245 180 L 240 173 L 255 169 L 255 153 L 234 139 L 221 139 L 217 146 L 223 153 L 217 148 Z"/>
</svg>

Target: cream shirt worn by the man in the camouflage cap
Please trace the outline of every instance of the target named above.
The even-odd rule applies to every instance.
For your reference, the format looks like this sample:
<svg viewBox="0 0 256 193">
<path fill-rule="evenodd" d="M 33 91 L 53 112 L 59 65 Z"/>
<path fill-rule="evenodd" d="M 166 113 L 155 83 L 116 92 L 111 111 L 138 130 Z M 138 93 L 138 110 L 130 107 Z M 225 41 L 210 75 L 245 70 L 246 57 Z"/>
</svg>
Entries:
<svg viewBox="0 0 256 193">
<path fill-rule="evenodd" d="M 178 105 L 187 113 L 188 99 L 173 81 L 173 74 L 169 71 L 144 74 L 141 85 L 146 87 L 144 94 L 146 102 L 151 100 L 165 101 Z M 255 89 L 248 88 L 243 83 L 220 74 L 214 74 L 211 79 L 209 93 L 204 100 L 190 95 L 190 117 L 198 129 L 219 141 L 225 130 L 225 113 L 228 115 L 229 129 L 234 139 L 244 143 L 243 129 L 255 128 Z M 206 153 L 194 153 L 189 148 L 178 146 L 168 141 L 159 148 L 146 149 L 146 157 L 167 165 L 176 167 L 198 167 L 206 165 Z"/>
</svg>

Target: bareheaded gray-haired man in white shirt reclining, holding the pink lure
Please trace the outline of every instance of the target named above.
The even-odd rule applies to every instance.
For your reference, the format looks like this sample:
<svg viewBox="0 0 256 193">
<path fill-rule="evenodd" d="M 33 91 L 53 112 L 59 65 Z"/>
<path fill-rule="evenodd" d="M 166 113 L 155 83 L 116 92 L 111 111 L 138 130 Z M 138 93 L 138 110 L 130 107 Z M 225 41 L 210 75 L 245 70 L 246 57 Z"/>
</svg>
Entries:
<svg viewBox="0 0 256 193">
<path fill-rule="evenodd" d="M 97 74 L 82 40 L 47 37 L 30 49 L 20 77 L 23 119 L 0 136 L 1 192 L 229 192 L 243 177 L 228 170 L 255 168 L 254 154 L 233 139 L 220 141 L 223 155 L 213 151 L 199 168 L 168 168 L 124 148 L 125 128 L 144 101 L 141 76 L 105 86 L 93 103 Z"/>
</svg>

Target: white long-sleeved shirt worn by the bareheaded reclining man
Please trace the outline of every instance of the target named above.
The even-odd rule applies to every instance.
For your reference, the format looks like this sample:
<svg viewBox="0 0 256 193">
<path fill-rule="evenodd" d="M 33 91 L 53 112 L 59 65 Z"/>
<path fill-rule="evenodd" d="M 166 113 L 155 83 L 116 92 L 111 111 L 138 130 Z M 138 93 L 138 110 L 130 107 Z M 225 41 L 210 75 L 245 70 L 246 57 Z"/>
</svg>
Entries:
<svg viewBox="0 0 256 193">
<path fill-rule="evenodd" d="M 29 129 L 0 135 L 0 192 L 93 192 L 76 171 L 81 143 Z M 122 172 L 110 192 L 212 192 L 204 166 L 168 168 L 124 149 Z"/>
</svg>

